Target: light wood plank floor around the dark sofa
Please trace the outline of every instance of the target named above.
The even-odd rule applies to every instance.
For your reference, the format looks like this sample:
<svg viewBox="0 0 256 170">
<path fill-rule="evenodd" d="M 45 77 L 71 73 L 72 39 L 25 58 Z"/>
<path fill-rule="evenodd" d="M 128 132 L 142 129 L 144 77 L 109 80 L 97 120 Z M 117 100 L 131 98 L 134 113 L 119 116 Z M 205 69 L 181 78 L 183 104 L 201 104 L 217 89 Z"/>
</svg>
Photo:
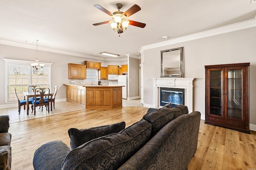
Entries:
<svg viewBox="0 0 256 170">
<path fill-rule="evenodd" d="M 63 109 L 68 111 L 68 104 L 64 104 Z M 83 129 L 120 121 L 125 121 L 128 127 L 142 119 L 147 109 L 130 106 L 110 110 L 82 109 L 11 123 L 12 170 L 33 170 L 34 152 L 46 142 L 60 140 L 69 146 L 70 128 Z M 251 131 L 249 135 L 206 125 L 201 120 L 198 149 L 188 166 L 188 170 L 197 169 L 256 170 L 256 132 Z"/>
</svg>

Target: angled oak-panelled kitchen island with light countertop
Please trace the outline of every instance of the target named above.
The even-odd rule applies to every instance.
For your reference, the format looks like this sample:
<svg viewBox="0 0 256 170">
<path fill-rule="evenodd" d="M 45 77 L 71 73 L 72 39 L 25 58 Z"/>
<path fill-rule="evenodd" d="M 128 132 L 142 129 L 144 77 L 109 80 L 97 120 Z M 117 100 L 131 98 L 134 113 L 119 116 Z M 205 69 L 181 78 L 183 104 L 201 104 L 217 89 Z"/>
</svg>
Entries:
<svg viewBox="0 0 256 170">
<path fill-rule="evenodd" d="M 122 86 L 64 84 L 66 100 L 85 105 L 86 109 L 122 107 Z"/>
</svg>

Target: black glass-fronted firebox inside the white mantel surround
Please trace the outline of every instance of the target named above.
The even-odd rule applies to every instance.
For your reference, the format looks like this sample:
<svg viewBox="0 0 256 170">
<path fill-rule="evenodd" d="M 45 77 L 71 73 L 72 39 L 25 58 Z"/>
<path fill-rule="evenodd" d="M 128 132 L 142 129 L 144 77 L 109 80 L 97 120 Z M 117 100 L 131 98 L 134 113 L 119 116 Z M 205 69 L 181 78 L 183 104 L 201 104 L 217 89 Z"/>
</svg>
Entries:
<svg viewBox="0 0 256 170">
<path fill-rule="evenodd" d="M 172 103 L 172 107 L 179 104 L 184 105 L 185 90 L 181 88 L 164 88 L 160 87 L 160 106 Z"/>
</svg>

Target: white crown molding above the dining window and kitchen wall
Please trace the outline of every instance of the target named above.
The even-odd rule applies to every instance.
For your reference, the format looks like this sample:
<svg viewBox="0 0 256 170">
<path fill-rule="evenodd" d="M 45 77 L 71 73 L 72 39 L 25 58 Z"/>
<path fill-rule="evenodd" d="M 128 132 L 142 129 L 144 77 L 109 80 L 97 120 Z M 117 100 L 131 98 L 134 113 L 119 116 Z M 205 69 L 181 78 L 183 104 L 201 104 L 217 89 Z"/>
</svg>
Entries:
<svg viewBox="0 0 256 170">
<path fill-rule="evenodd" d="M 22 48 L 26 48 L 26 49 L 36 49 L 35 45 L 30 45 L 30 44 L 25 44 L 25 43 L 18 43 L 18 42 L 8 41 L 8 40 L 4 40 L 4 39 L 0 39 L 0 44 L 10 45 L 10 46 L 14 46 L 14 47 L 22 47 Z M 104 58 L 104 57 L 97 57 L 97 56 L 93 56 L 93 55 L 73 53 L 73 52 L 70 52 L 70 51 L 63 51 L 63 50 L 46 48 L 46 47 L 40 47 L 40 46 L 38 46 L 38 50 L 52 52 L 52 53 L 59 53 L 59 54 L 64 54 L 64 55 L 73 55 L 73 56 L 78 56 L 78 57 L 85 57 L 85 58 L 89 58 L 89 59 L 97 59 L 97 60 L 102 60 L 102 61 L 125 61 L 125 60 L 127 60 L 127 57 L 119 58 L 119 59 Z"/>
</svg>

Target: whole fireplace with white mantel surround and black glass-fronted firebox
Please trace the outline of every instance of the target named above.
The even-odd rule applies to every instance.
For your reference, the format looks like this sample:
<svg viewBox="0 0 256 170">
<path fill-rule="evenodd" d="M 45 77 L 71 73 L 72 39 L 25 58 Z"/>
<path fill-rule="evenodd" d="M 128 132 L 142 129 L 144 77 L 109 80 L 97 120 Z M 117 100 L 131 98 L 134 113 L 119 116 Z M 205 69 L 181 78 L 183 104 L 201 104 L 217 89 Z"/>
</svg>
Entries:
<svg viewBox="0 0 256 170">
<path fill-rule="evenodd" d="M 161 108 L 166 103 L 182 104 L 188 106 L 188 111 L 191 113 L 194 111 L 194 78 L 152 78 L 153 80 L 153 105 L 150 107 Z M 168 90 L 166 90 L 166 88 Z M 170 92 L 161 92 L 161 89 Z M 181 93 L 182 92 L 182 95 Z M 168 100 L 161 98 L 161 94 L 172 94 L 175 100 Z M 164 99 L 164 100 L 163 100 Z M 161 102 L 164 101 L 164 102 Z M 177 102 L 178 101 L 178 102 Z"/>
</svg>

